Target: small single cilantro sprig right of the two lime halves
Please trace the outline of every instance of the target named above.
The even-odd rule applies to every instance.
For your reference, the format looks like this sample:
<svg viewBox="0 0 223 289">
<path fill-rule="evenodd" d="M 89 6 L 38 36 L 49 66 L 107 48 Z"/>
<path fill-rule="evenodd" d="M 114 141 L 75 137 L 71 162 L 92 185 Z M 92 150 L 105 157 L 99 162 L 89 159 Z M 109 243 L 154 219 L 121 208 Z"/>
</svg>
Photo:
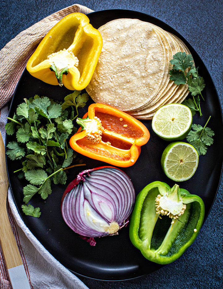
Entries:
<svg viewBox="0 0 223 289">
<path fill-rule="evenodd" d="M 208 118 L 204 127 L 200 124 L 192 124 L 191 130 L 186 137 L 186 140 L 195 147 L 199 155 L 205 155 L 208 146 L 213 144 L 214 132 L 210 127 L 207 127 L 210 118 L 211 116 Z"/>
</svg>

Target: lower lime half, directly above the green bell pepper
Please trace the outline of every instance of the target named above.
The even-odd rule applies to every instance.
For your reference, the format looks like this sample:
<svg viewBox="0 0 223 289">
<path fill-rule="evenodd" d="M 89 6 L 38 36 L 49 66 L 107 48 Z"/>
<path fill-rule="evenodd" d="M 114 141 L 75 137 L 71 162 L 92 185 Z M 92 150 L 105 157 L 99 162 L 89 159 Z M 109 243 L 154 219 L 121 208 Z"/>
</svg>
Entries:
<svg viewBox="0 0 223 289">
<path fill-rule="evenodd" d="M 182 182 L 189 180 L 194 175 L 198 160 L 198 153 L 191 144 L 177 141 L 164 149 L 161 166 L 168 178 Z"/>
</svg>

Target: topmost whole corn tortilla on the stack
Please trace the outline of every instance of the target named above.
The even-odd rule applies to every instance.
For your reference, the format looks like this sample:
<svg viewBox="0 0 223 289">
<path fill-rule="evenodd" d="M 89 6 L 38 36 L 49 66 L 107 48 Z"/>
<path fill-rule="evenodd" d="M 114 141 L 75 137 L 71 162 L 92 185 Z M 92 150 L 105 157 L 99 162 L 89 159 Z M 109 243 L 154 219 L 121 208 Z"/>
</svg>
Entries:
<svg viewBox="0 0 223 289">
<path fill-rule="evenodd" d="M 138 19 L 116 19 L 98 30 L 103 48 L 86 91 L 95 102 L 122 111 L 146 105 L 162 87 L 168 65 L 153 25 Z"/>
</svg>

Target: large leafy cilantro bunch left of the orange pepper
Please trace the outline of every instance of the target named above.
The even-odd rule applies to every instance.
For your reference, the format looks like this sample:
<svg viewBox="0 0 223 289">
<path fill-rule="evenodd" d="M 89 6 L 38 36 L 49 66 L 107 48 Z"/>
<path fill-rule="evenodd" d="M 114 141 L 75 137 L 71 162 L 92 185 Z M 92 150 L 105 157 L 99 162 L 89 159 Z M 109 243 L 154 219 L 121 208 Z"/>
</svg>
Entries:
<svg viewBox="0 0 223 289">
<path fill-rule="evenodd" d="M 76 158 L 73 149 L 68 147 L 68 139 L 77 131 L 73 120 L 78 116 L 78 108 L 84 107 L 88 98 L 88 94 L 74 91 L 62 104 L 35 95 L 24 99 L 13 118 L 8 118 L 11 122 L 5 126 L 6 133 L 15 134 L 16 140 L 7 144 L 6 153 L 11 160 L 21 161 L 18 177 L 28 181 L 23 188 L 22 209 L 26 215 L 39 217 L 41 214 L 39 207 L 28 204 L 36 193 L 45 200 L 52 192 L 52 182 L 66 183 L 65 170 Z M 78 165 L 81 164 L 73 166 Z"/>
</svg>

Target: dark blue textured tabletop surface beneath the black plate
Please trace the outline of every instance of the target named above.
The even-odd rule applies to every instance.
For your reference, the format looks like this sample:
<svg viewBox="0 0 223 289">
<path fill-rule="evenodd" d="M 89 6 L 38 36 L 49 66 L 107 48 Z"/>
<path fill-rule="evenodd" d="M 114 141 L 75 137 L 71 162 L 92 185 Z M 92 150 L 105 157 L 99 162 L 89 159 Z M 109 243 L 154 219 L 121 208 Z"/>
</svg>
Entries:
<svg viewBox="0 0 223 289">
<path fill-rule="evenodd" d="M 0 49 L 20 31 L 62 8 L 70 0 L 8 0 L 0 3 Z M 223 105 L 222 34 L 223 1 L 82 1 L 95 11 L 130 9 L 154 16 L 176 29 L 207 66 Z M 222 132 L 223 133 L 223 132 Z M 223 288 L 223 183 L 198 238 L 186 253 L 159 271 L 131 281 L 99 282 L 81 278 L 93 288 L 212 289 Z M 111 248 L 112 250 L 112 248 Z"/>
</svg>

